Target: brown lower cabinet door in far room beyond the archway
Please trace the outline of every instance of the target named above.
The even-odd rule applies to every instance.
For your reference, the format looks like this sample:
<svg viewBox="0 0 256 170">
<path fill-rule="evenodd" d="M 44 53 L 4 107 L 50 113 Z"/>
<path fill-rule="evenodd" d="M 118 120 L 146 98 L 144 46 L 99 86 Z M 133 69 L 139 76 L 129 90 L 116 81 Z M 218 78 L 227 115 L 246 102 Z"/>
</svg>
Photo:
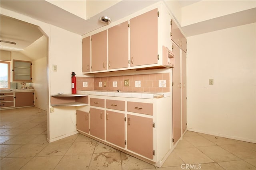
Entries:
<svg viewBox="0 0 256 170">
<path fill-rule="evenodd" d="M 34 92 L 16 92 L 14 95 L 15 107 L 34 105 Z"/>
</svg>

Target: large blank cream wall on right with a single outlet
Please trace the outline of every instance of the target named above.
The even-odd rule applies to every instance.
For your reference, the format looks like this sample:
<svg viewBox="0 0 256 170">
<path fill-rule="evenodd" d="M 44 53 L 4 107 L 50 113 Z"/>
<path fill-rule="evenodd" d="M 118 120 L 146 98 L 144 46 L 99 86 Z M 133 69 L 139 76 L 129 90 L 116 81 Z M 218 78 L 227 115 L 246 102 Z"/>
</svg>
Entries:
<svg viewBox="0 0 256 170">
<path fill-rule="evenodd" d="M 255 31 L 251 23 L 187 38 L 188 130 L 256 143 Z"/>
</svg>

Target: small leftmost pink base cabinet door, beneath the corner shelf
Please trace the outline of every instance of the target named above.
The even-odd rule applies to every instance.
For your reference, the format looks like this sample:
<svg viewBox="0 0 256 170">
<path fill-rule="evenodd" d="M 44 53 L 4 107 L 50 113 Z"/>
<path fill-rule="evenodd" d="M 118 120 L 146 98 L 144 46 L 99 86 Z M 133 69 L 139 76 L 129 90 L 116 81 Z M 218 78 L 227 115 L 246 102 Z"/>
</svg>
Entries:
<svg viewBox="0 0 256 170">
<path fill-rule="evenodd" d="M 89 133 L 89 113 L 76 110 L 76 129 Z"/>
</svg>

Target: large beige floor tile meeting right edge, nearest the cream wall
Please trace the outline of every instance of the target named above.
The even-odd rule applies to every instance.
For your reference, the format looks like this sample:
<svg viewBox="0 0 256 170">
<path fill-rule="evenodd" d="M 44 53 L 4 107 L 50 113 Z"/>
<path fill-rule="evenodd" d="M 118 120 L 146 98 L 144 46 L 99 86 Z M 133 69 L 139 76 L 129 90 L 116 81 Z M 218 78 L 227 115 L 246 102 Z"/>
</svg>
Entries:
<svg viewBox="0 0 256 170">
<path fill-rule="evenodd" d="M 229 145 L 219 145 L 228 152 L 238 156 L 241 159 L 256 158 L 256 152 L 252 149 L 244 147 L 242 144 L 229 144 Z"/>
</svg>

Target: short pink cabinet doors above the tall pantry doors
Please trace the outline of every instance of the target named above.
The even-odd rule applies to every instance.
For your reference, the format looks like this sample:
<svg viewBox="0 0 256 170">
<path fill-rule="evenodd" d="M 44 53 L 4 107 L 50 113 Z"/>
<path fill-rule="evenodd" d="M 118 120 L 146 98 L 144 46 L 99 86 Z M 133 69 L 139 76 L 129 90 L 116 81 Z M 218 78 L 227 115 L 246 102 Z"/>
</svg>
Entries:
<svg viewBox="0 0 256 170">
<path fill-rule="evenodd" d="M 171 39 L 174 43 L 176 43 L 183 51 L 187 52 L 187 39 L 181 33 L 180 29 L 176 25 L 176 23 L 171 21 Z M 176 54 L 175 54 L 176 55 Z"/>
</svg>

